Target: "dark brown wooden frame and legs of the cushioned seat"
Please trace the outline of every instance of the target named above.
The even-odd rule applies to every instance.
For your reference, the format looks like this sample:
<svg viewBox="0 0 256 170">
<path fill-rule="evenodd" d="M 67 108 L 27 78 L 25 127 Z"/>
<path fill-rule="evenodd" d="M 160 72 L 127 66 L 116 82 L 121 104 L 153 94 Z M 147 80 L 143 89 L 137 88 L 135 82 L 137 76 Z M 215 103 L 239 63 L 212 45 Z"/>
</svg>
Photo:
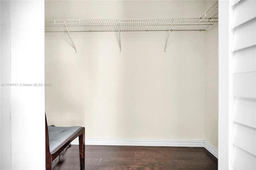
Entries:
<svg viewBox="0 0 256 170">
<path fill-rule="evenodd" d="M 80 170 L 84 170 L 84 138 L 85 138 L 85 129 L 84 127 L 79 128 L 74 134 L 67 138 L 60 146 L 50 152 L 49 148 L 49 134 L 48 134 L 48 125 L 45 116 L 45 142 L 46 142 L 46 170 L 52 169 L 52 161 L 57 158 L 62 150 L 64 150 L 72 140 L 79 136 L 79 154 L 80 154 Z"/>
</svg>

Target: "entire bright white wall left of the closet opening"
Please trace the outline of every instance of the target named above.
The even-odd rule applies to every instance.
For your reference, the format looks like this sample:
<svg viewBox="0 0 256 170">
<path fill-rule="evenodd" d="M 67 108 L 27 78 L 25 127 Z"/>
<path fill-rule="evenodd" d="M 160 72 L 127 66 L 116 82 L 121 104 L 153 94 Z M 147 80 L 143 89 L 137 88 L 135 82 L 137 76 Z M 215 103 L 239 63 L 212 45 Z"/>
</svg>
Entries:
<svg viewBox="0 0 256 170">
<path fill-rule="evenodd" d="M 1 169 L 45 169 L 44 1 L 1 1 Z M 18 86 L 2 84 L 14 83 Z"/>
</svg>

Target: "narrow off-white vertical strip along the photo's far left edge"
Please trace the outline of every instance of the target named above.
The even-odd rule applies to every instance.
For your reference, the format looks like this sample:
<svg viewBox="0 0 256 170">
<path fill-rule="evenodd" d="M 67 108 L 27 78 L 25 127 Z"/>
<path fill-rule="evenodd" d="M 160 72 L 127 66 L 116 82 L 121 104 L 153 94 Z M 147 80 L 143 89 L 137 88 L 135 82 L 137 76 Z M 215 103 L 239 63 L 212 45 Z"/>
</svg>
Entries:
<svg viewBox="0 0 256 170">
<path fill-rule="evenodd" d="M 0 67 L 1 75 L 0 81 L 10 82 L 10 15 L 8 8 L 10 1 L 1 1 L 1 58 Z M 10 128 L 10 87 L 1 87 L 1 115 L 0 115 L 0 154 L 1 154 L 1 167 L 0 169 L 10 169 L 11 166 L 11 128 Z"/>
</svg>

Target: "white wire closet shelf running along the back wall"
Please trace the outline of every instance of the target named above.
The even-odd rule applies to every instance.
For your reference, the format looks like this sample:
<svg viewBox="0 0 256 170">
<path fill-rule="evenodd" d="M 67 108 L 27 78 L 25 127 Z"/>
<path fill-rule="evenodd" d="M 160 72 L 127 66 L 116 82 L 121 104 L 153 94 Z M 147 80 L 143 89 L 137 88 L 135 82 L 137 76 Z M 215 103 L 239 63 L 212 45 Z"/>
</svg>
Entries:
<svg viewBox="0 0 256 170">
<path fill-rule="evenodd" d="M 218 1 L 200 18 L 46 20 L 45 32 L 205 31 L 218 22 Z"/>
</svg>

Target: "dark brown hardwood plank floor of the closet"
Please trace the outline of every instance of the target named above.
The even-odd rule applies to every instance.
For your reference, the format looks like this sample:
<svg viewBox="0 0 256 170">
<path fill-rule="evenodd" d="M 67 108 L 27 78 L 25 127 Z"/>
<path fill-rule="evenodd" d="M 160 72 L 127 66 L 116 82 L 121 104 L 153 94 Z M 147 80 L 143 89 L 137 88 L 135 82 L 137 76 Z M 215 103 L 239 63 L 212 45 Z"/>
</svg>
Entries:
<svg viewBox="0 0 256 170">
<path fill-rule="evenodd" d="M 86 170 L 218 169 L 218 160 L 205 148 L 153 146 L 85 146 Z M 78 145 L 66 148 L 52 170 L 80 170 Z"/>
</svg>

